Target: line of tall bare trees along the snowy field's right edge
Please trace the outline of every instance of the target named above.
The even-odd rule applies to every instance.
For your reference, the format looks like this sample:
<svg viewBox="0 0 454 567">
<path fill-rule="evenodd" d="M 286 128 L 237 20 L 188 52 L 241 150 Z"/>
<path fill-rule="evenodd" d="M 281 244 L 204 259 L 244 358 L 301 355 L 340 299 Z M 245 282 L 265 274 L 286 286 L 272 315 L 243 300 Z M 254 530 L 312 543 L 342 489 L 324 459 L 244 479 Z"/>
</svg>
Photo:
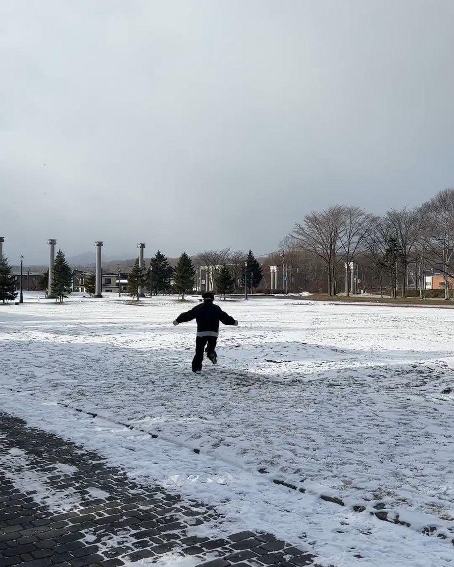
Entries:
<svg viewBox="0 0 454 567">
<path fill-rule="evenodd" d="M 444 189 L 421 206 L 390 209 L 384 215 L 355 205 L 333 205 L 307 213 L 282 239 L 292 265 L 292 285 L 336 295 L 352 291 L 350 270 L 361 289 L 392 297 L 408 289 L 426 297 L 425 274 L 443 276 L 444 298 L 454 288 L 454 189 Z"/>
</svg>

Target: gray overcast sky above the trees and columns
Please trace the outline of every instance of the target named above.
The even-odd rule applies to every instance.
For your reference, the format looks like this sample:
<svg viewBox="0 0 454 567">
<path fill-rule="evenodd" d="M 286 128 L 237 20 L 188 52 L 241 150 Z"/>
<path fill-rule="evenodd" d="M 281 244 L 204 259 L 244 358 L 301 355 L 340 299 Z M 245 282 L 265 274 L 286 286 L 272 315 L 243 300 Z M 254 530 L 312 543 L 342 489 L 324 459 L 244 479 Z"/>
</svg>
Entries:
<svg viewBox="0 0 454 567">
<path fill-rule="evenodd" d="M 0 6 L 0 235 L 16 263 L 275 249 L 306 211 L 454 185 L 452 0 Z"/>
</svg>

